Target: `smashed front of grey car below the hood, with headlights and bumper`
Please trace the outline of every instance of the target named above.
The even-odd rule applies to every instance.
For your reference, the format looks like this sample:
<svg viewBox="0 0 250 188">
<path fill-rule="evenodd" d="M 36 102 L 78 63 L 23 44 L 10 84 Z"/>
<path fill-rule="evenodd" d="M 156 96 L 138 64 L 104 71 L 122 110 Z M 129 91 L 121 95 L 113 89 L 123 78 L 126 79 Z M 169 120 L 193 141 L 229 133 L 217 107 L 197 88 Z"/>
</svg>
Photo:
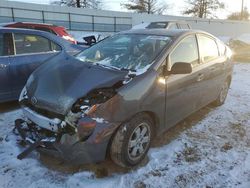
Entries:
<svg viewBox="0 0 250 188">
<path fill-rule="evenodd" d="M 76 164 L 103 161 L 110 137 L 120 122 L 99 116 L 99 107 L 117 95 L 123 81 L 110 88 L 92 89 L 77 99 L 66 115 L 36 107 L 36 98 L 28 96 L 24 88 L 19 102 L 25 118 L 15 121 L 15 130 L 28 146 L 18 159 L 37 149 Z"/>
</svg>

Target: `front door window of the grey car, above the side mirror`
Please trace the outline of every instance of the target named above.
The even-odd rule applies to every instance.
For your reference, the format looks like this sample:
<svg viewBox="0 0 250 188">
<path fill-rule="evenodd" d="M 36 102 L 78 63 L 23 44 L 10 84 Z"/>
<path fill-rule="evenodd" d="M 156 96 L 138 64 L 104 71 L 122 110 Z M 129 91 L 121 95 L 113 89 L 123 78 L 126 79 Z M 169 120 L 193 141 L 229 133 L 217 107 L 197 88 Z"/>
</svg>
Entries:
<svg viewBox="0 0 250 188">
<path fill-rule="evenodd" d="M 170 54 L 169 58 L 171 66 L 177 62 L 198 64 L 199 54 L 196 37 L 192 35 L 183 39 Z"/>
</svg>

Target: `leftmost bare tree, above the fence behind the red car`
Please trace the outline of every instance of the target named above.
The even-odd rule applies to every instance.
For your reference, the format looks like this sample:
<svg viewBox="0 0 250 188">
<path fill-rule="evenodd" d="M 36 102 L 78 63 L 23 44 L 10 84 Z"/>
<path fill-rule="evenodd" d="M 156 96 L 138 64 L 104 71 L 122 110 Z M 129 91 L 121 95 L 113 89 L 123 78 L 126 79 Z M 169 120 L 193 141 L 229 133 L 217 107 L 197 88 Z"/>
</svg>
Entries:
<svg viewBox="0 0 250 188">
<path fill-rule="evenodd" d="M 101 1 L 100 0 L 55 0 L 52 4 L 77 7 L 77 8 L 92 8 L 100 9 Z"/>
</svg>

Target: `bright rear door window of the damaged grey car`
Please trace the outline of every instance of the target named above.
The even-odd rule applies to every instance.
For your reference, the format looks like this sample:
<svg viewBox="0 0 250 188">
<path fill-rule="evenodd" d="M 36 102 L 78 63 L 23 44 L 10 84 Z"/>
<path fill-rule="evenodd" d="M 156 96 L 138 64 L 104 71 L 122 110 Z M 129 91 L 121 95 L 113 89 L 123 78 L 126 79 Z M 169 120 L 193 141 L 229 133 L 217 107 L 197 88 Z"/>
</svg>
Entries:
<svg viewBox="0 0 250 188">
<path fill-rule="evenodd" d="M 214 39 L 198 35 L 200 54 L 203 62 L 209 62 L 219 57 L 219 51 Z"/>
</svg>

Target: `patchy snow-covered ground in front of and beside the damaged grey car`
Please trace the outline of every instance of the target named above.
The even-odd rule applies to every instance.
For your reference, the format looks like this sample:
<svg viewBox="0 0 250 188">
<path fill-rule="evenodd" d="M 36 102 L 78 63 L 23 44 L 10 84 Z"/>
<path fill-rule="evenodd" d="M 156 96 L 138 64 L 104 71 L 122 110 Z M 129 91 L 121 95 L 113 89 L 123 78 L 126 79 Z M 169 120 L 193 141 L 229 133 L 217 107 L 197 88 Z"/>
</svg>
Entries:
<svg viewBox="0 0 250 188">
<path fill-rule="evenodd" d="M 16 159 L 22 148 L 11 129 L 19 116 L 18 109 L 0 114 L 0 187 L 250 187 L 250 64 L 235 66 L 223 106 L 206 107 L 163 134 L 142 167 L 125 172 L 104 162 L 101 171 L 111 172 L 102 178 L 93 170 L 102 164 L 64 169 L 36 152 Z"/>
</svg>

